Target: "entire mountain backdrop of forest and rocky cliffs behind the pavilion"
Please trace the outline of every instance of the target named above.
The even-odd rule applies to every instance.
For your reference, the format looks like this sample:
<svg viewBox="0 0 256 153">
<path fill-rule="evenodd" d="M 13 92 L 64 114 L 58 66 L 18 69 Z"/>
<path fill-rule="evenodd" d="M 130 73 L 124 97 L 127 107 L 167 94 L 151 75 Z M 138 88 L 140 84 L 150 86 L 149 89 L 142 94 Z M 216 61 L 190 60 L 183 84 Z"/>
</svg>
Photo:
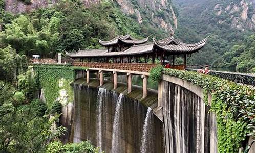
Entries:
<svg viewBox="0 0 256 153">
<path fill-rule="evenodd" d="M 240 72 L 255 69 L 253 1 L 0 2 L 0 47 L 10 44 L 17 53 L 30 57 L 99 48 L 98 38 L 108 40 L 128 33 L 136 38 L 151 34 L 164 38 L 175 29 L 175 36 L 186 43 L 210 36 L 206 46 L 188 58 L 188 64 L 209 64 Z"/>
</svg>

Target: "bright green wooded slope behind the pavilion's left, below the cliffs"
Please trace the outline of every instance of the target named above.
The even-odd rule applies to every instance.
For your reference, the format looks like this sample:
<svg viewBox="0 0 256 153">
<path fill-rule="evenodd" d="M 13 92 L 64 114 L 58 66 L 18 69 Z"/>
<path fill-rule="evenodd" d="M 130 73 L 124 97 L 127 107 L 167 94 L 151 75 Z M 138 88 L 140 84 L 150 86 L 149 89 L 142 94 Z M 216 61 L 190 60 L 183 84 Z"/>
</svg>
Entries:
<svg viewBox="0 0 256 153">
<path fill-rule="evenodd" d="M 40 54 L 54 57 L 57 52 L 98 48 L 98 38 L 108 40 L 116 35 L 131 34 L 136 38 L 153 34 L 166 36 L 161 28 L 121 12 L 116 3 L 103 1 L 90 8 L 80 1 L 59 1 L 52 7 L 38 8 L 30 13 L 12 14 L 4 11 L 0 47 L 10 44 L 19 54 Z"/>
</svg>

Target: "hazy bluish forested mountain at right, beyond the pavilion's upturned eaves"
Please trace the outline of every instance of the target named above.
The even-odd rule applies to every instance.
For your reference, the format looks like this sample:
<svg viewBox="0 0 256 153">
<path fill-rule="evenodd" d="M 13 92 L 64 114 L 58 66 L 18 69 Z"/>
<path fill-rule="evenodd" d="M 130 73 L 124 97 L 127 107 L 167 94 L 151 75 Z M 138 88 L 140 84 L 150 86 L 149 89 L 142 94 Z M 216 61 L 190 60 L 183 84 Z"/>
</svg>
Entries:
<svg viewBox="0 0 256 153">
<path fill-rule="evenodd" d="M 178 1 L 179 28 L 185 42 L 210 35 L 207 45 L 194 54 L 190 64 L 210 64 L 255 71 L 255 1 Z"/>
</svg>

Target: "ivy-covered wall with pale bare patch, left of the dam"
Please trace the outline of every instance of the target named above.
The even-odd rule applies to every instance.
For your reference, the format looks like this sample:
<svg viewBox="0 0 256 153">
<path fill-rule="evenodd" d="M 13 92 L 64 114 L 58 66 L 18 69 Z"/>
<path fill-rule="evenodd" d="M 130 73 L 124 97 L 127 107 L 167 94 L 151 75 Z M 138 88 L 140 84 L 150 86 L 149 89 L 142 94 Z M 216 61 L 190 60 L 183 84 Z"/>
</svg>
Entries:
<svg viewBox="0 0 256 153">
<path fill-rule="evenodd" d="M 33 66 L 36 71 L 37 83 L 40 88 L 44 89 L 48 108 L 51 108 L 56 100 L 66 101 L 65 103 L 73 101 L 74 93 L 70 83 L 75 80 L 77 70 L 85 70 L 86 68 L 71 65 L 36 64 Z M 60 92 L 67 95 L 67 97 L 61 99 Z"/>
</svg>

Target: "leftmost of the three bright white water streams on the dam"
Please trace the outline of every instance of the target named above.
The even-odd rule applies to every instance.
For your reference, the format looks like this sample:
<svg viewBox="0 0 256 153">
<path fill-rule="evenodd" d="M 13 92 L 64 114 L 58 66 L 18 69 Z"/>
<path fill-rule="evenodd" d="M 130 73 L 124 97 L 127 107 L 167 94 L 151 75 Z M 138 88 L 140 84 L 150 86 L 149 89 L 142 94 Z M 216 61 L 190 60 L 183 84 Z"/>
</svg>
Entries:
<svg viewBox="0 0 256 153">
<path fill-rule="evenodd" d="M 99 91 L 98 91 L 98 96 L 97 96 L 97 103 L 98 103 L 98 106 L 97 106 L 97 120 L 98 120 L 98 123 L 97 123 L 97 145 L 98 147 L 100 147 L 100 152 L 102 152 L 102 132 L 103 132 L 103 129 L 102 129 L 102 124 L 103 124 L 103 103 L 104 103 L 104 98 L 106 97 L 106 92 L 107 90 L 106 89 L 103 89 L 103 88 L 99 88 Z"/>
</svg>

